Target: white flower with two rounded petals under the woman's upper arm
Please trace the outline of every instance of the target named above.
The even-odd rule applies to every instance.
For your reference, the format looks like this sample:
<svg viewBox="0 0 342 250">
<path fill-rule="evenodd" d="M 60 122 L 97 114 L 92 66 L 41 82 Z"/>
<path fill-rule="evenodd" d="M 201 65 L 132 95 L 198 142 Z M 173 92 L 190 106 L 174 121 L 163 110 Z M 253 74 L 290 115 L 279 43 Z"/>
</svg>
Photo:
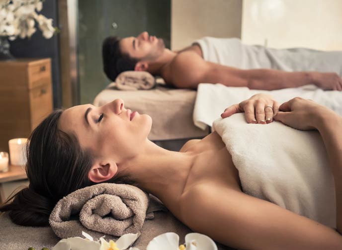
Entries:
<svg viewBox="0 0 342 250">
<path fill-rule="evenodd" d="M 165 233 L 155 237 L 146 250 L 217 250 L 215 242 L 206 235 L 190 233 L 185 236 L 185 246 L 179 245 L 179 236 Z"/>
</svg>

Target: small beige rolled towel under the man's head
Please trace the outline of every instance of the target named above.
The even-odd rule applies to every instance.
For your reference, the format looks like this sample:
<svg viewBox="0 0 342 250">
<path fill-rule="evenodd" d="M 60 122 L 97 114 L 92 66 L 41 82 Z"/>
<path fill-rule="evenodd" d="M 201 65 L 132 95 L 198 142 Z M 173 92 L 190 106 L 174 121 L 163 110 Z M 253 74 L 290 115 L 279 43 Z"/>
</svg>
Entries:
<svg viewBox="0 0 342 250">
<path fill-rule="evenodd" d="M 121 90 L 151 89 L 156 86 L 156 81 L 146 71 L 125 71 L 116 77 L 115 86 Z"/>
</svg>

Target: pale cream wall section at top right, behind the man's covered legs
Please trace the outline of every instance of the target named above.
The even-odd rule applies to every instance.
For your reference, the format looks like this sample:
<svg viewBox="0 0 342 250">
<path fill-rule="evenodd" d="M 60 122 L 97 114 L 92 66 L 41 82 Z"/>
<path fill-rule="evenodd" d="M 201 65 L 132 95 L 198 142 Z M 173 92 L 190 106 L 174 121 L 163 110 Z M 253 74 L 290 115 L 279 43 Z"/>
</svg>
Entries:
<svg viewBox="0 0 342 250">
<path fill-rule="evenodd" d="M 244 0 L 241 36 L 271 48 L 342 50 L 342 0 Z"/>
</svg>

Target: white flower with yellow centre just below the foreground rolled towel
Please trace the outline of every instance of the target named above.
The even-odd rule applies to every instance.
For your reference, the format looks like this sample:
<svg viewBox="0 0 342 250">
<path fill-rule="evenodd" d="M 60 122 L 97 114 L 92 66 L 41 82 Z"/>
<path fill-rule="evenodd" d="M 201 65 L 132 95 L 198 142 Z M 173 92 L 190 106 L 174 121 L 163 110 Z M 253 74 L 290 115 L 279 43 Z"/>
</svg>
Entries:
<svg viewBox="0 0 342 250">
<path fill-rule="evenodd" d="M 86 238 L 72 237 L 60 240 L 52 250 L 126 250 L 139 237 L 138 234 L 126 234 L 121 236 L 116 243 L 113 241 L 106 242 L 103 237 L 99 241 L 94 241 L 93 238 L 85 232 L 82 235 Z M 139 250 L 130 248 L 129 250 Z"/>
</svg>

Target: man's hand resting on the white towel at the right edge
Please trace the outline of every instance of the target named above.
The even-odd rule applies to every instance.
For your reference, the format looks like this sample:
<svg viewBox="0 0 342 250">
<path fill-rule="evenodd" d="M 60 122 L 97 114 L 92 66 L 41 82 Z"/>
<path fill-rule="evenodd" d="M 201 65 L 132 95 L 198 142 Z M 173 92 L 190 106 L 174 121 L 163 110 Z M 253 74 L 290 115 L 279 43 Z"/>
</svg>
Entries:
<svg viewBox="0 0 342 250">
<path fill-rule="evenodd" d="M 342 90 L 342 78 L 336 73 L 312 72 L 312 82 L 325 90 Z"/>
</svg>

